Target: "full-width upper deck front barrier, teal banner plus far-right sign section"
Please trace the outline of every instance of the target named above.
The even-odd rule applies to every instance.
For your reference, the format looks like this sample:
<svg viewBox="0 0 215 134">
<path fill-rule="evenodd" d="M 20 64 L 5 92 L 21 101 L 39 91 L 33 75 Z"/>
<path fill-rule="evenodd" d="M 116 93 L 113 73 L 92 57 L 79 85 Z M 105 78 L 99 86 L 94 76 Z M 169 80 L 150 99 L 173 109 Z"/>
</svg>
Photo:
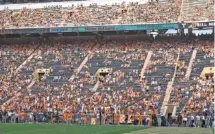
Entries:
<svg viewBox="0 0 215 134">
<path fill-rule="evenodd" d="M 214 21 L 204 22 L 181 22 L 181 23 L 151 23 L 151 24 L 112 24 L 104 26 L 79 26 L 71 24 L 54 25 L 47 27 L 19 27 L 0 28 L 0 34 L 43 34 L 43 33 L 79 33 L 79 32 L 104 32 L 104 31 L 143 31 L 143 30 L 168 30 L 181 28 L 207 28 L 214 27 Z"/>
</svg>

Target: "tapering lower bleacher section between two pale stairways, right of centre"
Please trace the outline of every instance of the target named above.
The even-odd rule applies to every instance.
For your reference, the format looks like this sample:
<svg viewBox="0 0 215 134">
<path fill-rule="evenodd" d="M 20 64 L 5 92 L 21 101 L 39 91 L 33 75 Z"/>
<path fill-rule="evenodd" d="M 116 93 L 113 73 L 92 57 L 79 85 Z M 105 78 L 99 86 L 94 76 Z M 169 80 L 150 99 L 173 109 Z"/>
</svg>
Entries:
<svg viewBox="0 0 215 134">
<path fill-rule="evenodd" d="M 168 57 L 168 60 L 166 59 Z M 152 91 L 152 96 L 156 96 L 160 99 L 156 100 L 156 109 L 160 110 L 162 101 L 165 96 L 165 91 L 168 82 L 171 81 L 175 63 L 174 59 L 177 57 L 177 49 L 159 50 L 152 56 L 152 68 L 155 72 L 145 74 L 145 78 L 148 82 L 149 90 Z M 149 65 L 149 68 L 151 66 Z"/>
</svg>

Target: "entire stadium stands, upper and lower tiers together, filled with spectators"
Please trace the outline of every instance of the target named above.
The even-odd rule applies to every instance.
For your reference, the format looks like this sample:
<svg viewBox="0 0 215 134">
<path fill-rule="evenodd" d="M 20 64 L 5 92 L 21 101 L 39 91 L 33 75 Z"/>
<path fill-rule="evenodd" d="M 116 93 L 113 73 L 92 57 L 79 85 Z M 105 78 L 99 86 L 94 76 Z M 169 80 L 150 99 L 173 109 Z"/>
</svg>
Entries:
<svg viewBox="0 0 215 134">
<path fill-rule="evenodd" d="M 213 4 L 183 0 L 5 8 L 0 11 L 0 30 L 208 21 L 214 20 Z M 182 31 L 181 27 L 178 24 L 178 31 Z M 102 114 L 107 119 L 104 124 L 114 123 L 110 121 L 114 117 L 115 123 L 120 124 L 122 114 L 132 116 L 133 122 L 139 120 L 139 125 L 142 120 L 150 124 L 151 115 L 165 118 L 169 112 L 183 114 L 184 118 L 213 115 L 214 76 L 202 76 L 205 67 L 214 66 L 211 35 L 200 38 L 188 32 L 189 38 L 182 34 L 160 36 L 166 32 L 164 29 L 152 31 L 149 26 L 144 32 L 134 32 L 136 35 L 130 35 L 131 29 L 123 31 L 125 35 L 115 29 L 116 36 L 109 36 L 112 31 L 107 35 L 104 31 L 104 35 L 67 31 L 68 35 L 78 37 L 65 37 L 62 29 L 57 29 L 57 33 L 50 34 L 52 37 L 38 32 L 40 37 L 35 42 L 30 39 L 19 44 L 0 42 L 0 105 L 4 111 L 13 112 L 14 117 L 19 115 L 17 122 L 32 122 L 35 114 L 50 114 L 49 121 L 40 121 L 52 122 L 53 113 L 55 117 L 63 115 L 64 122 L 69 119 L 65 114 L 73 120 L 79 114 L 89 113 L 94 118 Z M 158 35 L 145 38 L 148 32 Z M 167 104 L 177 108 L 167 111 Z M 10 121 L 7 118 L 2 122 Z M 39 120 L 35 117 L 35 121 Z"/>
</svg>

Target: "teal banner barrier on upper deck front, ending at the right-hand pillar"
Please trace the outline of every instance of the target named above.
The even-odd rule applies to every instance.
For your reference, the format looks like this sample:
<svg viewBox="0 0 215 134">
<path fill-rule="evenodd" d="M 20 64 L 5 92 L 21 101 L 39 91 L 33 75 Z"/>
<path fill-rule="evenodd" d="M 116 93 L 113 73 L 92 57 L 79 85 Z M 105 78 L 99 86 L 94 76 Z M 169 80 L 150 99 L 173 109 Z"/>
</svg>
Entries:
<svg viewBox="0 0 215 134">
<path fill-rule="evenodd" d="M 136 25 L 106 25 L 81 27 L 53 27 L 53 28 L 19 28 L 0 29 L 0 34 L 42 34 L 42 33 L 71 33 L 71 32 L 99 32 L 99 31 L 141 31 L 141 30 L 179 29 L 179 24 L 136 24 Z"/>
</svg>

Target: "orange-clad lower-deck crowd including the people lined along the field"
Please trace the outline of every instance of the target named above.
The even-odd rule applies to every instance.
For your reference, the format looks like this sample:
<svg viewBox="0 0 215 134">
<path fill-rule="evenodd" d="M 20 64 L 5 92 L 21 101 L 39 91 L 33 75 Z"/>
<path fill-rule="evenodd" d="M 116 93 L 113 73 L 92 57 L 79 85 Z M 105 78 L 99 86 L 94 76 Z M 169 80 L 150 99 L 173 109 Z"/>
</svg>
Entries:
<svg viewBox="0 0 215 134">
<path fill-rule="evenodd" d="M 8 72 L 16 78 L 1 80 L 1 104 L 19 93 L 18 97 L 4 104 L 0 114 L 2 122 L 89 124 L 94 118 L 94 123 L 98 124 L 171 125 L 170 120 L 168 119 L 167 123 L 167 117 L 159 111 L 167 84 L 178 65 L 175 59 L 179 50 L 186 53 L 196 48 L 199 53 L 206 52 L 205 59 L 213 57 L 210 51 L 212 42 L 198 39 L 192 43 L 186 39 L 150 42 L 124 38 L 103 42 L 71 42 L 64 39 L 63 42 L 56 43 L 53 40 L 45 43 L 23 47 L 15 45 L 14 48 L 13 45 L 5 45 L 1 48 L 0 56 L 5 61 L 1 64 L 5 70 L 2 71 L 1 77 L 6 77 L 4 72 Z M 206 44 L 203 46 L 203 43 Z M 15 49 L 17 47 L 19 49 Z M 21 53 L 16 53 L 17 51 Z M 140 72 L 149 51 L 153 54 L 143 79 L 140 79 Z M 15 60 L 17 54 L 19 57 Z M 15 74 L 14 70 L 31 54 L 34 54 L 33 58 Z M 77 68 L 88 56 L 87 63 L 78 72 Z M 184 58 L 181 59 L 183 60 Z M 14 63 L 7 64 L 9 61 Z M 199 61 L 197 57 L 196 61 L 202 60 Z M 208 62 L 210 60 L 206 60 L 206 63 Z M 42 68 L 50 69 L 50 72 L 41 77 L 33 77 L 35 70 Z M 108 73 L 98 76 L 98 70 L 101 68 L 107 68 Z M 200 76 L 202 70 L 195 69 L 196 64 L 193 68 Z M 183 102 L 185 109 L 179 114 L 182 116 L 178 117 L 177 122 L 180 124 L 182 119 L 186 121 L 189 117 L 189 126 L 199 126 L 200 121 L 202 127 L 212 126 L 214 82 L 211 77 L 203 80 L 192 74 L 191 79 L 197 84 L 190 88 L 173 87 L 171 103 L 181 102 L 184 98 L 188 100 L 189 92 L 192 92 L 191 99 L 195 100 Z M 27 88 L 32 81 L 35 82 L 33 86 Z M 11 87 L 5 88 L 7 84 Z M 9 95 L 5 96 L 5 93 Z"/>
</svg>

